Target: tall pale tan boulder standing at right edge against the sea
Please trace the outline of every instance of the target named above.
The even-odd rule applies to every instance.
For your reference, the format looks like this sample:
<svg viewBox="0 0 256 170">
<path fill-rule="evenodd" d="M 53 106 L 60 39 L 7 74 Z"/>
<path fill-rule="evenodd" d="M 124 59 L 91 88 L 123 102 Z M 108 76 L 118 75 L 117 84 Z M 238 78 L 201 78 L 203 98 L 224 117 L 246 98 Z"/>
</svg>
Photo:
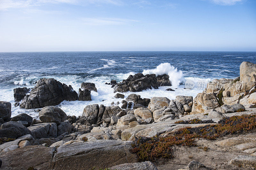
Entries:
<svg viewBox="0 0 256 170">
<path fill-rule="evenodd" d="M 256 82 L 256 64 L 243 62 L 240 64 L 240 81 Z"/>
</svg>

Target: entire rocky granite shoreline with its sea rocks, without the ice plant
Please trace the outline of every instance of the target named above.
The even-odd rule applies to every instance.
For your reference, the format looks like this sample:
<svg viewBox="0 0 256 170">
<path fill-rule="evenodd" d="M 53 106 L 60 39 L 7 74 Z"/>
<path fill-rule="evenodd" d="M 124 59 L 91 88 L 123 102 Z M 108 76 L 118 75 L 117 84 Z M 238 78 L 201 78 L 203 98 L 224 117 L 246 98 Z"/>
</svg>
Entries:
<svg viewBox="0 0 256 170">
<path fill-rule="evenodd" d="M 142 73 L 130 75 L 120 83 L 109 83 L 114 93 L 171 84 L 168 75 Z M 256 169 L 256 120 L 246 133 L 215 140 L 196 139 L 198 147 L 175 145 L 173 158 L 162 155 L 140 162 L 138 153 L 131 152 L 138 137 L 169 137 L 182 128 L 215 125 L 228 117 L 256 114 L 256 64 L 241 63 L 239 77 L 215 79 L 195 98 L 180 95 L 175 100 L 142 99 L 130 94 L 124 99 L 124 94 L 116 93 L 113 97 L 120 99 L 117 103 L 88 105 L 79 117 L 67 116 L 56 107 L 63 100 L 92 100 L 91 91 L 97 92 L 93 83 L 82 83 L 77 93 L 71 85 L 53 78 L 38 80 L 33 89 L 14 89 L 15 106 L 42 109 L 38 110 L 40 120 L 25 113 L 11 118 L 11 103 L 0 101 L 0 168 Z"/>
</svg>

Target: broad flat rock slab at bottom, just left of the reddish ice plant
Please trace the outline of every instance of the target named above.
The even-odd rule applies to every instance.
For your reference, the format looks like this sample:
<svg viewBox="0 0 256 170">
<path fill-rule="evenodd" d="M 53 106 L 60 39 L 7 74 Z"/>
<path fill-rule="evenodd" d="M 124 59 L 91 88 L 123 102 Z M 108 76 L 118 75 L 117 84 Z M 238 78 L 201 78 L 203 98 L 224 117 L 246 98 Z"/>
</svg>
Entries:
<svg viewBox="0 0 256 170">
<path fill-rule="evenodd" d="M 58 169 L 96 169 L 107 168 L 137 161 L 130 152 L 131 142 L 117 140 L 97 140 L 61 145 L 54 155 L 54 168 Z"/>
</svg>

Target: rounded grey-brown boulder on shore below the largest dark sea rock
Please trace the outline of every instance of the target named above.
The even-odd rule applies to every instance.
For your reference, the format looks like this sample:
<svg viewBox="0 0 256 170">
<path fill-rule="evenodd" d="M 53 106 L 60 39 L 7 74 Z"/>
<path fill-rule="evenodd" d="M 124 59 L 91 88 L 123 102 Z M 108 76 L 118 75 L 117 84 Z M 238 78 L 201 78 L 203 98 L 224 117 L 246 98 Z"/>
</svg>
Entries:
<svg viewBox="0 0 256 170">
<path fill-rule="evenodd" d="M 59 124 L 68 119 L 66 113 L 56 106 L 47 106 L 39 112 L 39 119 L 42 122 L 54 122 Z"/>
</svg>

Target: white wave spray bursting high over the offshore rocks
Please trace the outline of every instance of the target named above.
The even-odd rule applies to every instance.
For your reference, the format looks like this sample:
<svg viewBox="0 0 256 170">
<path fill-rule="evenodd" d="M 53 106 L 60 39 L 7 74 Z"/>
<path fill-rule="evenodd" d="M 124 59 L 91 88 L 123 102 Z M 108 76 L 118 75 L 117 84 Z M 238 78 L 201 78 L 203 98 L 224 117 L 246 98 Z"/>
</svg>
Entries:
<svg viewBox="0 0 256 170">
<path fill-rule="evenodd" d="M 172 86 L 175 88 L 180 85 L 183 77 L 182 71 L 178 71 L 170 63 L 161 63 L 156 69 L 143 70 L 142 74 L 156 74 L 156 76 L 167 74 L 172 82 Z"/>
</svg>

